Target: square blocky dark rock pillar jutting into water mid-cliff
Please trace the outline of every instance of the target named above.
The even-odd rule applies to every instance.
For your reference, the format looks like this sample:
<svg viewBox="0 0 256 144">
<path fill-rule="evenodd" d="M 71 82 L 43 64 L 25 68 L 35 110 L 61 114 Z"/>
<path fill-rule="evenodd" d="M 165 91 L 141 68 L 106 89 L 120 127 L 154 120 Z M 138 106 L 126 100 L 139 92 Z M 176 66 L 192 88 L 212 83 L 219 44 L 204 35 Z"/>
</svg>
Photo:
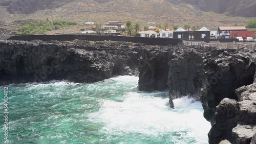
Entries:
<svg viewBox="0 0 256 144">
<path fill-rule="evenodd" d="M 167 88 L 168 61 L 173 51 L 168 47 L 144 49 L 138 59 L 139 90 L 154 91 Z"/>
</svg>

